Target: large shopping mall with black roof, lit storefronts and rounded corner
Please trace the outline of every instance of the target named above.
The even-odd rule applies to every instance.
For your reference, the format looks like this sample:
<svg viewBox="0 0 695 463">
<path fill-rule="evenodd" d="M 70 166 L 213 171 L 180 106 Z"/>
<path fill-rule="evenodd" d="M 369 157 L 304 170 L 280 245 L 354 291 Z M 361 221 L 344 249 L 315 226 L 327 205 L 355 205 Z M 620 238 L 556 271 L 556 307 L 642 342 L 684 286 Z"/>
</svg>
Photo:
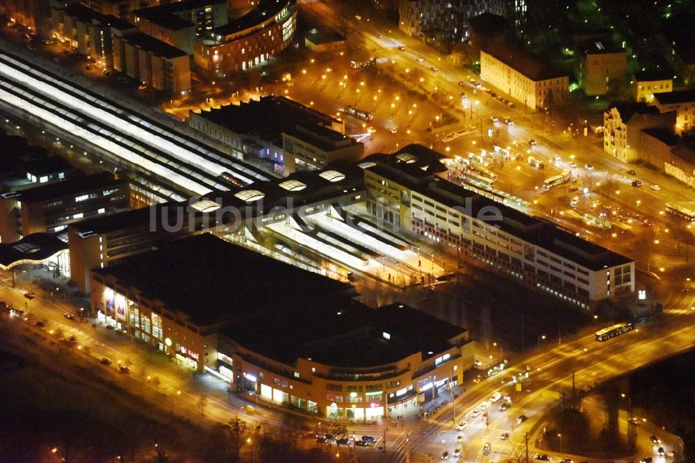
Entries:
<svg viewBox="0 0 695 463">
<path fill-rule="evenodd" d="M 264 277 L 267 275 L 267 277 Z M 369 420 L 423 403 L 473 364 L 468 332 L 404 304 L 199 234 L 92 270 L 92 313 L 231 389 Z"/>
</svg>

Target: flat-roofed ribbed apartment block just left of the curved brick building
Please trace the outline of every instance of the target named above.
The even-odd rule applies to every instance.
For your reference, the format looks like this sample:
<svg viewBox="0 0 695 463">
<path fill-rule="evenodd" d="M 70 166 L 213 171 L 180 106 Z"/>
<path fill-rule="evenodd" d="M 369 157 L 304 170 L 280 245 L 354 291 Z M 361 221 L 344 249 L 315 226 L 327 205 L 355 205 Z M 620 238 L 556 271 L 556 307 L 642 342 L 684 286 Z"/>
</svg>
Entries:
<svg viewBox="0 0 695 463">
<path fill-rule="evenodd" d="M 169 94 L 190 90 L 186 51 L 142 32 L 113 37 L 113 68 Z"/>
</svg>

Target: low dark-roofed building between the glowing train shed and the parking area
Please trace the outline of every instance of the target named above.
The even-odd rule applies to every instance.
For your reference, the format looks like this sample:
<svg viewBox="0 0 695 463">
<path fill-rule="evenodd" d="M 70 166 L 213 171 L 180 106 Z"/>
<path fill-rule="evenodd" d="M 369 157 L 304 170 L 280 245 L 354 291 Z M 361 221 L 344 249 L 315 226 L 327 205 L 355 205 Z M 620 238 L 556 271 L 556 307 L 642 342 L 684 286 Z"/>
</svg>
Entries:
<svg viewBox="0 0 695 463">
<path fill-rule="evenodd" d="M 362 143 L 344 135 L 343 122 L 286 97 L 191 112 L 189 124 L 231 147 L 232 156 L 261 159 L 279 174 L 357 161 L 364 152 Z"/>
</svg>

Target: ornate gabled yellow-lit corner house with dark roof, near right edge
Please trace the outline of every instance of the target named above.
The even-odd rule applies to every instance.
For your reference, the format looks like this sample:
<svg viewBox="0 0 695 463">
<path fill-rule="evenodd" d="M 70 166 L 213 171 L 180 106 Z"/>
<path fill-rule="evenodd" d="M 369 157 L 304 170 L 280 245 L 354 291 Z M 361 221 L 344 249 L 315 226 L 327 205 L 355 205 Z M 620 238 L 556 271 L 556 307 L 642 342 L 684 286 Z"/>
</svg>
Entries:
<svg viewBox="0 0 695 463">
<path fill-rule="evenodd" d="M 646 103 L 614 103 L 603 113 L 603 150 L 623 163 L 637 161 L 639 133 L 644 129 L 673 129 L 676 112 L 660 113 Z"/>
</svg>

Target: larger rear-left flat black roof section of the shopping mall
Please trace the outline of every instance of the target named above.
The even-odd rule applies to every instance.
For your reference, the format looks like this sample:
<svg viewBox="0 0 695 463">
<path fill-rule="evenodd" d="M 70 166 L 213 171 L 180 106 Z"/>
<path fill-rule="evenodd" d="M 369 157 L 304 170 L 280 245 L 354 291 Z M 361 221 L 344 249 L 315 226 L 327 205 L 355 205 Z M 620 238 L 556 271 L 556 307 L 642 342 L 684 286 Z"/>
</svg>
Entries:
<svg viewBox="0 0 695 463">
<path fill-rule="evenodd" d="M 127 262 L 93 270 L 164 302 L 191 323 L 212 325 L 256 312 L 307 306 L 352 293 L 352 287 L 276 261 L 211 234 L 181 238 Z M 262 332 L 263 330 L 254 330 Z"/>
</svg>

